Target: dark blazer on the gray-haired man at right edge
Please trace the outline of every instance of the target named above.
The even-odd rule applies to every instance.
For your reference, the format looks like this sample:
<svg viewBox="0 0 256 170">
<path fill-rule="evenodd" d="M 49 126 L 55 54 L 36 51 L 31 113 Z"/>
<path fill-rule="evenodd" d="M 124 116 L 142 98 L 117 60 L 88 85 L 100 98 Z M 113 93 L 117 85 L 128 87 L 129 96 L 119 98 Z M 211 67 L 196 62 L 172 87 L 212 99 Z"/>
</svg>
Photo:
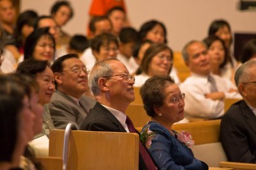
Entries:
<svg viewBox="0 0 256 170">
<path fill-rule="evenodd" d="M 229 161 L 256 163 L 256 117 L 244 100 L 223 116 L 220 138 Z"/>
</svg>

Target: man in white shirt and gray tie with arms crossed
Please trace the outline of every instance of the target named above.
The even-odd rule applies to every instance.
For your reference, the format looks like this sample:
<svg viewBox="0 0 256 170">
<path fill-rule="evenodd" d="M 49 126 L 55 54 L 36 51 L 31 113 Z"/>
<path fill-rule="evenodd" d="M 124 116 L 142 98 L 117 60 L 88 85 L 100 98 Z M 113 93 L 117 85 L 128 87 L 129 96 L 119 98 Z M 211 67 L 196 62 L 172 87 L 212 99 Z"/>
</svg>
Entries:
<svg viewBox="0 0 256 170">
<path fill-rule="evenodd" d="M 190 120 L 221 118 L 225 98 L 241 98 L 237 88 L 227 78 L 211 74 L 207 46 L 202 41 L 189 41 L 182 50 L 183 59 L 191 71 L 180 85 L 186 93 L 185 113 Z"/>
</svg>

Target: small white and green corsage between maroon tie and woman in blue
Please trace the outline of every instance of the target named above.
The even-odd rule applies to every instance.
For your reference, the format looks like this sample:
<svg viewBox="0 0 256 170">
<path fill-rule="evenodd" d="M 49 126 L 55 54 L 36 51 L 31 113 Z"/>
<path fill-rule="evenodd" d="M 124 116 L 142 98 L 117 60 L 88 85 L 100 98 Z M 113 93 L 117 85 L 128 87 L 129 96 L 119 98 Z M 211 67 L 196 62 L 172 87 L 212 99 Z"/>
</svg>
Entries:
<svg viewBox="0 0 256 170">
<path fill-rule="evenodd" d="M 147 125 L 143 131 L 140 132 L 140 141 L 145 145 L 148 149 L 152 144 L 152 139 L 156 137 L 156 133 L 149 130 L 150 125 Z"/>
</svg>

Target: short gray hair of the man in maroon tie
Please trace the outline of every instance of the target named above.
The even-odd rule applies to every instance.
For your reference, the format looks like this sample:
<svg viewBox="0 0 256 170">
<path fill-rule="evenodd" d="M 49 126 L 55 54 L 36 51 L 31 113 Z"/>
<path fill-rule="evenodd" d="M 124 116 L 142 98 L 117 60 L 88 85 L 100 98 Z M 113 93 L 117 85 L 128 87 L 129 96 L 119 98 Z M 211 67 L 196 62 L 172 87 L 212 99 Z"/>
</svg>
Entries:
<svg viewBox="0 0 256 170">
<path fill-rule="evenodd" d="M 104 76 L 111 76 L 113 73 L 113 69 L 109 66 L 109 60 L 117 60 L 117 59 L 106 59 L 96 62 L 93 66 L 92 71 L 89 76 L 89 87 L 92 90 L 93 95 L 97 95 L 100 87 L 98 81 L 100 78 Z"/>
</svg>

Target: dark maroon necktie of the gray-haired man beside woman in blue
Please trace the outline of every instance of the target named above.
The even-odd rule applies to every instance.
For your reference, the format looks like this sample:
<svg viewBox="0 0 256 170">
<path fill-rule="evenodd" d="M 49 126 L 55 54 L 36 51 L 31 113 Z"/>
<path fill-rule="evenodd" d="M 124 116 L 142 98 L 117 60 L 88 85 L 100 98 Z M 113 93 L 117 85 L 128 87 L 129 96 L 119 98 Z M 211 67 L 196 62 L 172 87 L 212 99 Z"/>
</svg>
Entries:
<svg viewBox="0 0 256 170">
<path fill-rule="evenodd" d="M 138 133 L 134 127 L 134 125 L 132 124 L 132 121 L 129 117 L 126 116 L 126 121 L 125 123 L 127 124 L 127 127 L 129 129 L 130 132 L 132 133 Z M 145 146 L 141 143 L 140 141 L 140 154 L 142 156 L 142 159 L 144 160 L 145 162 L 145 165 L 147 166 L 147 169 L 148 170 L 156 170 L 157 167 L 155 166 L 152 158 L 150 157 L 149 153 L 147 152 L 147 149 L 145 148 Z"/>
</svg>

